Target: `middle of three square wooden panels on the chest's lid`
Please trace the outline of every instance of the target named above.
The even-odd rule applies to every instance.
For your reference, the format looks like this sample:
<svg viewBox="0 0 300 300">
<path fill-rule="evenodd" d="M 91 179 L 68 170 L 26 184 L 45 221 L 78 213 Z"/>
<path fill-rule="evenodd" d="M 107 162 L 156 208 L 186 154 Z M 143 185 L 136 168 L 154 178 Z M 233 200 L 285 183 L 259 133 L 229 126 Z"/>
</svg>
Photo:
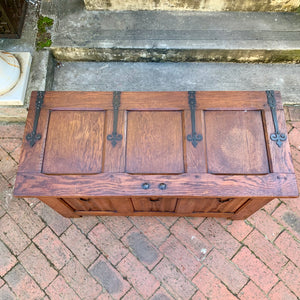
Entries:
<svg viewBox="0 0 300 300">
<path fill-rule="evenodd" d="M 127 122 L 126 172 L 184 172 L 182 112 L 130 111 Z"/>
</svg>

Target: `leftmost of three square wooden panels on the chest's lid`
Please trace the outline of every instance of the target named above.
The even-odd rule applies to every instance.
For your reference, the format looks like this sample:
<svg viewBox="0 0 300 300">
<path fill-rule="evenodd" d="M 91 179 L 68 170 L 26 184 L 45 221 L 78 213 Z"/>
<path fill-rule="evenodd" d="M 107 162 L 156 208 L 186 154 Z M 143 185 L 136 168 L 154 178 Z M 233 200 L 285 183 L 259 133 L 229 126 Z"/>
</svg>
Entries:
<svg viewBox="0 0 300 300">
<path fill-rule="evenodd" d="M 52 111 L 43 173 L 100 173 L 104 117 L 103 111 Z"/>
</svg>

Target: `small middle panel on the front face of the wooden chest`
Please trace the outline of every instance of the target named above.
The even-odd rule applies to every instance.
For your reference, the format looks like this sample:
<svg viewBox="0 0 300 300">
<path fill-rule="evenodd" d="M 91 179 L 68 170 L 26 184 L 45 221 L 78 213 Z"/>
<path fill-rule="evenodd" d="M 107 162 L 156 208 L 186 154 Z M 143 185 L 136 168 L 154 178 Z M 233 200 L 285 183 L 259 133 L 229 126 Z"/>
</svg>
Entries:
<svg viewBox="0 0 300 300">
<path fill-rule="evenodd" d="M 133 209 L 138 211 L 175 212 L 176 198 L 133 197 Z"/>
</svg>

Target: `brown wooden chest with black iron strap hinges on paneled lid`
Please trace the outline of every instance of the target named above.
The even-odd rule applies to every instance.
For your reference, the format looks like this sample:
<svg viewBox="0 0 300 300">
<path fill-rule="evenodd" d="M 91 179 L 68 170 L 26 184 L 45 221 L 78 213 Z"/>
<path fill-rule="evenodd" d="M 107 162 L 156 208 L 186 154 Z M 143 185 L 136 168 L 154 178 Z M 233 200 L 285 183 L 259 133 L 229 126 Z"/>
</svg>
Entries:
<svg viewBox="0 0 300 300">
<path fill-rule="evenodd" d="M 298 196 L 280 93 L 33 92 L 14 194 L 66 217 L 244 219 Z"/>
</svg>

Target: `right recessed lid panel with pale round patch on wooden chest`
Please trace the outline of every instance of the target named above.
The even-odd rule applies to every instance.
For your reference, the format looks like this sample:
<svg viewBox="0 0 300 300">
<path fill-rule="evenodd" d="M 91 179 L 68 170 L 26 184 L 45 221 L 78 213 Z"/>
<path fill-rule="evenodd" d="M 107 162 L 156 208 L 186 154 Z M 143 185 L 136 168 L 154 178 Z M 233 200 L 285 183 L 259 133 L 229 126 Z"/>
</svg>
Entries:
<svg viewBox="0 0 300 300">
<path fill-rule="evenodd" d="M 206 111 L 208 172 L 269 173 L 261 111 Z"/>
</svg>

